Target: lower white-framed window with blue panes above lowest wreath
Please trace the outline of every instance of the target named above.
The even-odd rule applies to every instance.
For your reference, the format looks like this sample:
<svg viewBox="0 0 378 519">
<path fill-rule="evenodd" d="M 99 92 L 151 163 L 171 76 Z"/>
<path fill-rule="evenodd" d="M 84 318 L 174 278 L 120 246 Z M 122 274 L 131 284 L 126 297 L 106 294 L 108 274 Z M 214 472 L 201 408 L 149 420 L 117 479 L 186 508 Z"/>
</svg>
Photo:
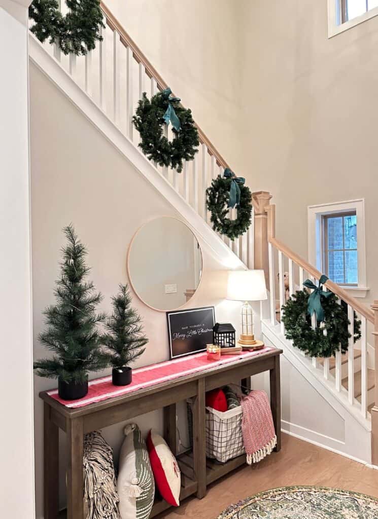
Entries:
<svg viewBox="0 0 378 519">
<path fill-rule="evenodd" d="M 364 201 L 308 208 L 308 261 L 355 297 L 365 297 Z"/>
</svg>

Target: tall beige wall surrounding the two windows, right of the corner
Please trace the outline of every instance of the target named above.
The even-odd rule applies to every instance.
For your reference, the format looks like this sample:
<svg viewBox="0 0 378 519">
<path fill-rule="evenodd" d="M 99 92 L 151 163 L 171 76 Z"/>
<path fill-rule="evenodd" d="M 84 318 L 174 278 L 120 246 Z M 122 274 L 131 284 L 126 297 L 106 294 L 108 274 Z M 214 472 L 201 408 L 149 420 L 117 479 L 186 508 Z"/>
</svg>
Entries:
<svg viewBox="0 0 378 519">
<path fill-rule="evenodd" d="M 370 301 L 378 296 L 378 18 L 328 39 L 326 0 L 242 0 L 239 15 L 249 185 L 272 192 L 277 237 L 304 256 L 307 206 L 365 198 Z"/>
</svg>

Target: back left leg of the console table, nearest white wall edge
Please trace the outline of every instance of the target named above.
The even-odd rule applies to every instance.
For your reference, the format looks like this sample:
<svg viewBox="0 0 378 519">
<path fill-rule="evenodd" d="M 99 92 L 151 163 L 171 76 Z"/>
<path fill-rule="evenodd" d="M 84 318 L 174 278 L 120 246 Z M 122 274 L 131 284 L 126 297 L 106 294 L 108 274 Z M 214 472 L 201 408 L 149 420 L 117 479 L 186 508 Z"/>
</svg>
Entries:
<svg viewBox="0 0 378 519">
<path fill-rule="evenodd" d="M 44 403 L 44 517 L 57 519 L 59 502 L 59 428 Z"/>
</svg>

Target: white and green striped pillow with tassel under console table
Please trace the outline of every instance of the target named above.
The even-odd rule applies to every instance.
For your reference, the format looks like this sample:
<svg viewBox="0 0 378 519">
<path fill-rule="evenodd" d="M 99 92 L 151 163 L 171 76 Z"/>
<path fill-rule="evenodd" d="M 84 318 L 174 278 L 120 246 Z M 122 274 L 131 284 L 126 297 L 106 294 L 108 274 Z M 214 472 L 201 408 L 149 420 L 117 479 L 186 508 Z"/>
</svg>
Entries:
<svg viewBox="0 0 378 519">
<path fill-rule="evenodd" d="M 149 454 L 137 424 L 127 425 L 124 433 L 117 480 L 119 513 L 122 519 L 148 519 L 155 497 Z"/>
</svg>

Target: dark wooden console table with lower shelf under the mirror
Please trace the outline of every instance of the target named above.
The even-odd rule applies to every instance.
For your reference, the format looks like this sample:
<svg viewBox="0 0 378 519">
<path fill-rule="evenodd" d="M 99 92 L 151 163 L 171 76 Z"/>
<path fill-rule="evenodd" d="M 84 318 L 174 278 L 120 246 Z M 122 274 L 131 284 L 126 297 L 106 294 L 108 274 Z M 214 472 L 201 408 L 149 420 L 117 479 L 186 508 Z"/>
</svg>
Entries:
<svg viewBox="0 0 378 519">
<path fill-rule="evenodd" d="M 196 494 L 201 499 L 208 484 L 227 472 L 243 465 L 246 456 L 234 458 L 223 465 L 215 464 L 205 455 L 205 392 L 226 384 L 236 383 L 250 387 L 250 377 L 264 371 L 270 372 L 271 407 L 277 434 L 277 447 L 281 446 L 281 403 L 279 356 L 282 350 L 272 349 L 255 357 L 236 358 L 219 366 L 209 366 L 206 371 L 192 373 L 175 380 L 159 383 L 121 397 L 68 408 L 53 399 L 47 391 L 39 396 L 44 400 L 44 517 L 57 519 L 59 494 L 59 429 L 67 435 L 67 517 L 84 519 L 83 499 L 83 438 L 84 434 L 108 427 L 118 422 L 140 416 L 156 409 L 164 409 L 164 436 L 177 455 L 176 405 L 193 398 L 193 451 L 178 456 L 182 471 L 180 500 Z M 151 517 L 169 508 L 165 501 L 154 504 Z"/>
</svg>

